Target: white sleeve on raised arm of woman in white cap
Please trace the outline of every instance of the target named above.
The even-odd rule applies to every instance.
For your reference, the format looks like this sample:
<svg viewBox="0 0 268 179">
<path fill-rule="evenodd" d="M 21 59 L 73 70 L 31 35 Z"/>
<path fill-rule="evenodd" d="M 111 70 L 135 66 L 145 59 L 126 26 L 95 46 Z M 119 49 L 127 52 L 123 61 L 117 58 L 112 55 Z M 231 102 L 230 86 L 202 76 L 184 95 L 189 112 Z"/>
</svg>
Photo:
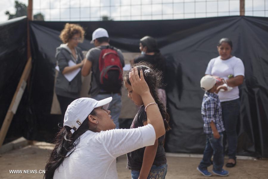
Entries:
<svg viewBox="0 0 268 179">
<path fill-rule="evenodd" d="M 101 131 L 99 140 L 107 152 L 116 158 L 133 150 L 154 145 L 155 129 L 151 124 L 147 124 L 134 129 Z"/>
</svg>

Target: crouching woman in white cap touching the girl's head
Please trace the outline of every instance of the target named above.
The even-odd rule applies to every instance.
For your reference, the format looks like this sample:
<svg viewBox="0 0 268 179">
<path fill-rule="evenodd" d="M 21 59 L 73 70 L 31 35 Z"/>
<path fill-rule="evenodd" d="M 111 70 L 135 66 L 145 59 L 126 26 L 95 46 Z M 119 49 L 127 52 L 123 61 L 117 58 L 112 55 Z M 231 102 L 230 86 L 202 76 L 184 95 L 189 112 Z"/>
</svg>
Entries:
<svg viewBox="0 0 268 179">
<path fill-rule="evenodd" d="M 147 106 L 148 125 L 115 129 L 107 110 L 112 97 L 101 101 L 74 100 L 65 112 L 63 129 L 57 134 L 44 178 L 118 178 L 116 157 L 153 145 L 165 134 L 163 118 L 142 71 L 140 78 L 137 68 L 133 68 L 129 79 L 133 91 L 141 95 Z"/>
</svg>

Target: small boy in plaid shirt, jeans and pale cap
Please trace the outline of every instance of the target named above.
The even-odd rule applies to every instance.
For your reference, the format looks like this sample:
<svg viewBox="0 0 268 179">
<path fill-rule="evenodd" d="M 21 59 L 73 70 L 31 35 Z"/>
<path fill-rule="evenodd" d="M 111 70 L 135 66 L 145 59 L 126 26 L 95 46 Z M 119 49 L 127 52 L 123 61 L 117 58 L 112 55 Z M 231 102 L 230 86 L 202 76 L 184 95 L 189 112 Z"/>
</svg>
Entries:
<svg viewBox="0 0 268 179">
<path fill-rule="evenodd" d="M 203 159 L 197 167 L 197 170 L 206 177 L 211 176 L 211 172 L 208 172 L 207 167 L 211 165 L 211 157 L 213 155 L 212 172 L 219 176 L 227 176 L 229 172 L 222 169 L 224 165 L 222 132 L 225 131 L 225 128 L 222 120 L 221 104 L 216 94 L 219 90 L 227 90 L 227 88 L 223 85 L 219 86 L 216 78 L 210 75 L 204 76 L 200 81 L 200 85 L 201 88 L 205 90 L 201 114 L 207 140 Z"/>
</svg>

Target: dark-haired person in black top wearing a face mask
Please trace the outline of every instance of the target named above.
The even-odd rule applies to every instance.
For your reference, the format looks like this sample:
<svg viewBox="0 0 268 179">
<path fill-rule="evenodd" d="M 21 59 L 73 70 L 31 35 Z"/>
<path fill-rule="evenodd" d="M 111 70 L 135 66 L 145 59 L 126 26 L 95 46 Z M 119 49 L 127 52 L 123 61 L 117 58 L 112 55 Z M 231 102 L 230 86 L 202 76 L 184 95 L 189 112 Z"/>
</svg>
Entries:
<svg viewBox="0 0 268 179">
<path fill-rule="evenodd" d="M 165 80 L 164 76 L 166 70 L 166 59 L 163 55 L 161 55 L 155 38 L 152 38 L 151 36 L 145 36 L 141 38 L 140 51 L 141 55 L 135 58 L 131 63 L 137 64 L 141 61 L 148 62 L 149 64 L 152 64 L 154 68 L 162 72 L 163 79 Z M 158 95 L 166 107 L 166 91 L 164 85 L 159 86 Z"/>
</svg>

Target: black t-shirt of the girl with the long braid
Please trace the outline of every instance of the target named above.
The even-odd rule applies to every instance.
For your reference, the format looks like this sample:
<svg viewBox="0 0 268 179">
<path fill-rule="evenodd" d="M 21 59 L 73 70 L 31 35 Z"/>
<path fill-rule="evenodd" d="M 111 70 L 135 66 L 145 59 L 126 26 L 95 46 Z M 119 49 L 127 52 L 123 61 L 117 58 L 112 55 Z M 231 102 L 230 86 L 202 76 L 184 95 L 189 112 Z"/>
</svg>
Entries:
<svg viewBox="0 0 268 179">
<path fill-rule="evenodd" d="M 144 110 L 144 105 L 141 107 L 141 109 L 136 114 L 130 129 L 132 128 L 138 128 L 143 126 L 143 122 L 147 121 L 147 115 Z M 157 152 L 155 155 L 155 160 L 153 162 L 153 165 L 160 166 L 166 163 L 166 153 L 163 146 L 163 140 L 165 138 L 165 135 L 158 138 L 158 147 Z M 143 161 L 143 155 L 144 155 L 145 147 L 134 150 L 133 152 L 127 153 L 127 169 L 130 170 L 141 170 L 141 165 Z"/>
</svg>

